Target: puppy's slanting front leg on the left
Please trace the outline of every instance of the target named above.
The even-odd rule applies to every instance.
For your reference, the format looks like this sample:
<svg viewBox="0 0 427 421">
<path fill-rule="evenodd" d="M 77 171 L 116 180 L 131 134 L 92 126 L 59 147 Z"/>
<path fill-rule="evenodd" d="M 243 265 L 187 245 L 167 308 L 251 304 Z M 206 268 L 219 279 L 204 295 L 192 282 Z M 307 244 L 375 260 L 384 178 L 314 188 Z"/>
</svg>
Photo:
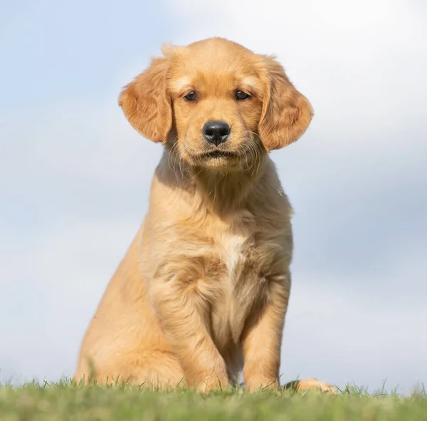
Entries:
<svg viewBox="0 0 427 421">
<path fill-rule="evenodd" d="M 226 388 L 226 363 L 209 331 L 209 301 L 201 295 L 197 279 L 179 272 L 171 279 L 154 279 L 150 288 L 162 329 L 188 385 L 203 392 Z"/>
</svg>

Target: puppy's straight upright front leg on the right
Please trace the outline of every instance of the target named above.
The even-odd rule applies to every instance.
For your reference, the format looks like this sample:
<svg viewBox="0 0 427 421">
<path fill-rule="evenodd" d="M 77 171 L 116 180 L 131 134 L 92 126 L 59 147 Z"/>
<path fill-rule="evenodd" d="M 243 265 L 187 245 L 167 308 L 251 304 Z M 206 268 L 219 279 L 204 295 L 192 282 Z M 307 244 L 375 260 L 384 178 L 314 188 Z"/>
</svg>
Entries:
<svg viewBox="0 0 427 421">
<path fill-rule="evenodd" d="M 243 378 L 246 388 L 278 388 L 280 348 L 288 308 L 290 275 L 270 281 L 265 301 L 255 308 L 243 332 Z"/>
</svg>

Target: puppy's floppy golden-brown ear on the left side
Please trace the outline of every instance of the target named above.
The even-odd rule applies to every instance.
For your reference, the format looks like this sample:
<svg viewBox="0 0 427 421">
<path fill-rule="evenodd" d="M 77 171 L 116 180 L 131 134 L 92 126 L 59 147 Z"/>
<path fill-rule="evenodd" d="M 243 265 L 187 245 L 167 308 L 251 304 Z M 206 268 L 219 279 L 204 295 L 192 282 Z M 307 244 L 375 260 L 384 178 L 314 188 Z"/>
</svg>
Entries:
<svg viewBox="0 0 427 421">
<path fill-rule="evenodd" d="M 171 98 L 166 91 L 168 63 L 168 58 L 153 58 L 151 66 L 126 85 L 119 97 L 132 127 L 153 142 L 166 142 L 172 128 Z"/>
</svg>

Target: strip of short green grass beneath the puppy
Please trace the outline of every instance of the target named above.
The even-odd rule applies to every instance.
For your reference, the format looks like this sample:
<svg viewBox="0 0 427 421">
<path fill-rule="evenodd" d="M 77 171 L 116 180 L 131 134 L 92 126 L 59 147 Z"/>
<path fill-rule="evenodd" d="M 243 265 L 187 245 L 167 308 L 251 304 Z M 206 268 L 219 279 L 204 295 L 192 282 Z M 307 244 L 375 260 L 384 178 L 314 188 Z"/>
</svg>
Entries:
<svg viewBox="0 0 427 421">
<path fill-rule="evenodd" d="M 369 394 L 347 387 L 337 396 L 243 389 L 209 396 L 192 390 L 156 392 L 130 386 L 83 386 L 72 381 L 0 386 L 0 420 L 427 420 L 427 396 Z"/>
</svg>

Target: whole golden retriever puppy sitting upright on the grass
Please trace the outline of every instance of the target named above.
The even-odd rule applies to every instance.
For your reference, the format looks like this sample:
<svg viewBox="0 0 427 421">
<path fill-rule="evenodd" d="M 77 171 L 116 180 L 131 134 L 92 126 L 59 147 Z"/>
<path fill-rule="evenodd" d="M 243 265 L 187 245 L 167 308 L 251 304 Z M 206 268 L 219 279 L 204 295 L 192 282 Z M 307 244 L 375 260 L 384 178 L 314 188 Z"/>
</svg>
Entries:
<svg viewBox="0 0 427 421">
<path fill-rule="evenodd" d="M 305 132 L 309 101 L 275 58 L 223 38 L 164 47 L 119 101 L 164 154 L 75 378 L 209 391 L 243 368 L 249 390 L 277 388 L 292 209 L 268 152 Z"/>
</svg>

